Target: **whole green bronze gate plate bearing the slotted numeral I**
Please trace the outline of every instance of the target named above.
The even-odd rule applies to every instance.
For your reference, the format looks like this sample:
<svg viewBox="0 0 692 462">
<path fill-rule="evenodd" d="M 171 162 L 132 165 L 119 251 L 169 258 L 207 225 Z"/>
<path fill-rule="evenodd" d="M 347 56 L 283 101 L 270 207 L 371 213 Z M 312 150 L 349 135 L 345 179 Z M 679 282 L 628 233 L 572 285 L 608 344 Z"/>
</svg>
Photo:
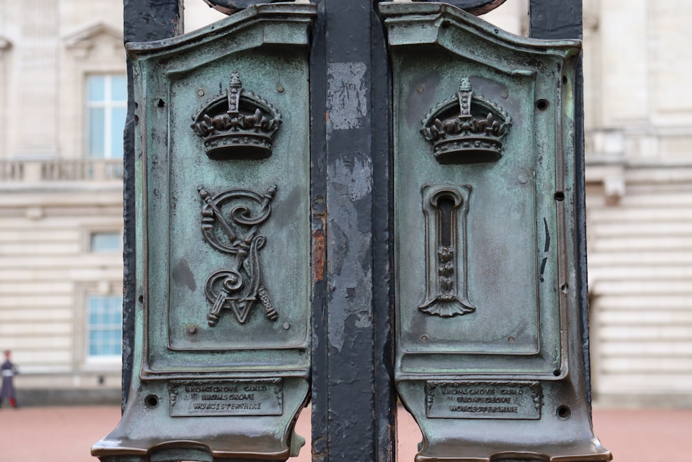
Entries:
<svg viewBox="0 0 692 462">
<path fill-rule="evenodd" d="M 424 434 L 416 460 L 610 460 L 590 424 L 576 290 L 580 43 L 520 39 L 441 3 L 380 9 L 395 379 Z"/>
</svg>

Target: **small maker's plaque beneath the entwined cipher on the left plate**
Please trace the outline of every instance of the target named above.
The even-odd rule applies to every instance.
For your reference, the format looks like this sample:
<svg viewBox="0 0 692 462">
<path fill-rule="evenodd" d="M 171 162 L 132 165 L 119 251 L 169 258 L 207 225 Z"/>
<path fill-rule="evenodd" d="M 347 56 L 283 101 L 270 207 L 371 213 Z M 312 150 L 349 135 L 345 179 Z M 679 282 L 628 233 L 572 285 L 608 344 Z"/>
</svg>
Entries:
<svg viewBox="0 0 692 462">
<path fill-rule="evenodd" d="M 280 416 L 280 378 L 260 380 L 173 380 L 169 384 L 170 415 Z"/>
</svg>

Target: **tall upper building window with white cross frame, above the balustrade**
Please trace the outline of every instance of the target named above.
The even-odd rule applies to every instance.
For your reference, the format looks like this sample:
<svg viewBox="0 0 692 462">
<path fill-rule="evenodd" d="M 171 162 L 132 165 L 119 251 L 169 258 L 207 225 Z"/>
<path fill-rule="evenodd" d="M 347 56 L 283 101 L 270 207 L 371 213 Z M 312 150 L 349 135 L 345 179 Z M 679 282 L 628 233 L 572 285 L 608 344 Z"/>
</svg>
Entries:
<svg viewBox="0 0 692 462">
<path fill-rule="evenodd" d="M 86 152 L 89 157 L 122 157 L 127 114 L 125 75 L 86 77 Z"/>
</svg>

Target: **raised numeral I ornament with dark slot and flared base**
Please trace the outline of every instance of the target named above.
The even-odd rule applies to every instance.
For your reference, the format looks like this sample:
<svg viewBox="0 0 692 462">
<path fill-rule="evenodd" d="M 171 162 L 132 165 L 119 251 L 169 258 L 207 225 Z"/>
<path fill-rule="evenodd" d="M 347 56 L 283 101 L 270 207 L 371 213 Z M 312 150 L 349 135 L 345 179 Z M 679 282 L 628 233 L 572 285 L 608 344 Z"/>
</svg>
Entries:
<svg viewBox="0 0 692 462">
<path fill-rule="evenodd" d="M 466 213 L 471 186 L 423 186 L 426 217 L 426 298 L 419 310 L 441 317 L 468 314 Z"/>
</svg>

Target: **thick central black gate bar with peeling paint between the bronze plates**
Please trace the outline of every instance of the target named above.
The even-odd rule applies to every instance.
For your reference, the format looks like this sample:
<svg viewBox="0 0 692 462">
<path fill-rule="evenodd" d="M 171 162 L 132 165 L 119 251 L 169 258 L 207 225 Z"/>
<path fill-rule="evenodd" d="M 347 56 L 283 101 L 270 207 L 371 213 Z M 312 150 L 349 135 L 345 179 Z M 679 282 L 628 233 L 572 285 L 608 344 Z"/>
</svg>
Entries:
<svg viewBox="0 0 692 462">
<path fill-rule="evenodd" d="M 383 29 L 375 1 L 322 0 L 318 6 L 310 81 L 313 461 L 393 462 L 390 86 Z"/>
</svg>

